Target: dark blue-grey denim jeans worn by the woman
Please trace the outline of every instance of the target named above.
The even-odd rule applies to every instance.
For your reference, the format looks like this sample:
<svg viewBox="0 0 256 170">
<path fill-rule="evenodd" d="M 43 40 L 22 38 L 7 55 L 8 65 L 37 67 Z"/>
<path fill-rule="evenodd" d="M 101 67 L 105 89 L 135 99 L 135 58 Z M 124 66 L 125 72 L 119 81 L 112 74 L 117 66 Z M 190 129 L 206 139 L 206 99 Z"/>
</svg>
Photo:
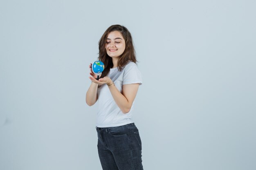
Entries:
<svg viewBox="0 0 256 170">
<path fill-rule="evenodd" d="M 96 129 L 103 170 L 143 170 L 141 139 L 134 123 Z"/>
</svg>

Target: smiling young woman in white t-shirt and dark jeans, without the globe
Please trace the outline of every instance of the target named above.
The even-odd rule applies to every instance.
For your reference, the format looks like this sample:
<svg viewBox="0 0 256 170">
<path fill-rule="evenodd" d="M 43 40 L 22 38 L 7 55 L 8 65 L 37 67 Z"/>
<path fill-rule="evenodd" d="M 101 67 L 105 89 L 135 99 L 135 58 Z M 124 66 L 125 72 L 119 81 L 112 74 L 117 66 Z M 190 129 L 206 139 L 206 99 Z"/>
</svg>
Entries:
<svg viewBox="0 0 256 170">
<path fill-rule="evenodd" d="M 86 103 L 99 101 L 96 129 L 98 153 L 103 170 L 143 170 L 141 139 L 134 124 L 133 101 L 141 73 L 128 29 L 110 26 L 99 40 L 99 57 L 105 69 L 99 80 L 90 68 L 90 85 Z"/>
</svg>

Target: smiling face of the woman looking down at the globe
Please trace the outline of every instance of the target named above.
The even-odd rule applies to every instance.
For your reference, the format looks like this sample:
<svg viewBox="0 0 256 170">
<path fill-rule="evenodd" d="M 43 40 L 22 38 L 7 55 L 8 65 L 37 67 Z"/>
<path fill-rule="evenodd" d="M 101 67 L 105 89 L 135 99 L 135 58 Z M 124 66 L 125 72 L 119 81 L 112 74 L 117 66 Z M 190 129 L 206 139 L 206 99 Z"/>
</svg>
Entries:
<svg viewBox="0 0 256 170">
<path fill-rule="evenodd" d="M 119 57 L 124 53 L 125 41 L 119 31 L 108 33 L 106 40 L 106 51 L 110 57 Z"/>
</svg>

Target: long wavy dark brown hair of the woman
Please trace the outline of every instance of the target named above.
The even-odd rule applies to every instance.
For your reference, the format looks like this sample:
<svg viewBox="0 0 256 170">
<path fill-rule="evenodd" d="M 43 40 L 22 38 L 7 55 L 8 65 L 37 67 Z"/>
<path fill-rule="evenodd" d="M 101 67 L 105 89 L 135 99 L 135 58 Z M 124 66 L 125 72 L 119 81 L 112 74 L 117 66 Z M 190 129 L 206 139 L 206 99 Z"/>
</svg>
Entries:
<svg viewBox="0 0 256 170">
<path fill-rule="evenodd" d="M 128 29 L 121 25 L 111 25 L 108 29 L 103 33 L 101 39 L 99 40 L 99 57 L 98 59 L 104 63 L 105 68 L 101 74 L 101 77 L 105 77 L 108 75 L 110 68 L 113 67 L 112 58 L 108 56 L 106 51 L 106 42 L 108 34 L 112 31 L 119 31 L 124 38 L 125 41 L 125 50 L 124 53 L 119 56 L 119 60 L 117 62 L 118 70 L 121 71 L 128 62 L 137 63 L 135 49 L 132 42 L 132 35 L 128 31 Z"/>
</svg>

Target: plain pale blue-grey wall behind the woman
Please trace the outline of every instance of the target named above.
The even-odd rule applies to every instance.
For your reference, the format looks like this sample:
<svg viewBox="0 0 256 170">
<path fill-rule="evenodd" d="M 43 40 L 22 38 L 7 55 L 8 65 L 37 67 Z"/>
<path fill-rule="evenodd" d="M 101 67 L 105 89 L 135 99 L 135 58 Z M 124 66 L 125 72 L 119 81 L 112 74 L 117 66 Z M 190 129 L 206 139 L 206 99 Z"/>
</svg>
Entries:
<svg viewBox="0 0 256 170">
<path fill-rule="evenodd" d="M 0 2 L 0 170 L 100 170 L 90 62 L 112 24 L 144 84 L 144 170 L 256 169 L 254 0 Z"/>
</svg>

